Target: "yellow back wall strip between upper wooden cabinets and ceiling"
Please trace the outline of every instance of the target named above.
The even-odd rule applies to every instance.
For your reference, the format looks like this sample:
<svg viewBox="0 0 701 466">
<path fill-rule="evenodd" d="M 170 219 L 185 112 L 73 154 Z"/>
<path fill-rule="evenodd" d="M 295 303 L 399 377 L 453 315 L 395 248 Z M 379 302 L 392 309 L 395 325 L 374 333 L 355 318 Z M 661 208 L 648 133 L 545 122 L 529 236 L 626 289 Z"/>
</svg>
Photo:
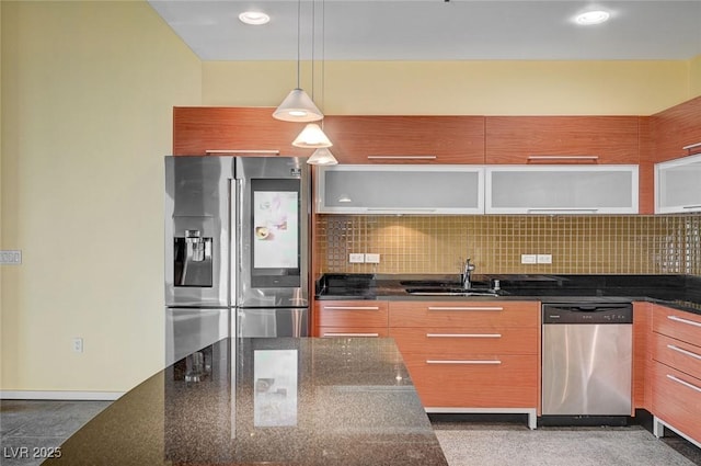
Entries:
<svg viewBox="0 0 701 466">
<path fill-rule="evenodd" d="M 701 94 L 687 61 L 327 61 L 315 101 L 334 114 L 651 115 Z M 205 105 L 275 106 L 292 61 L 206 61 Z M 311 93 L 311 66 L 302 67 Z"/>
</svg>

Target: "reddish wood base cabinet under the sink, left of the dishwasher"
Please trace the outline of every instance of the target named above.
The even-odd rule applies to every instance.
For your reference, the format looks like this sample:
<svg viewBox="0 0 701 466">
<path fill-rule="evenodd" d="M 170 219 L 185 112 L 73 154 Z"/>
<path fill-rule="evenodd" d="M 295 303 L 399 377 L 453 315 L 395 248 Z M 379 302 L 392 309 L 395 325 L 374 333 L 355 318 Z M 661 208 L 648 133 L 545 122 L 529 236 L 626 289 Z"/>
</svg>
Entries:
<svg viewBox="0 0 701 466">
<path fill-rule="evenodd" d="M 525 412 L 539 399 L 538 302 L 390 302 L 389 334 L 433 412 Z"/>
</svg>

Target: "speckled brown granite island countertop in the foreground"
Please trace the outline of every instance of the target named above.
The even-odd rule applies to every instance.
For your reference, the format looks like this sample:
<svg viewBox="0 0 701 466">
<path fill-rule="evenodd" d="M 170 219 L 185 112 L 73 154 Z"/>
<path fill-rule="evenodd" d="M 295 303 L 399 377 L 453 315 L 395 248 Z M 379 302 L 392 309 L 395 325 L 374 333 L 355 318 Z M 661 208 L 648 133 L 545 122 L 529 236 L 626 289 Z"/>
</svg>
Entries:
<svg viewBox="0 0 701 466">
<path fill-rule="evenodd" d="M 225 339 L 198 353 L 199 382 L 195 357 L 179 361 L 43 464 L 447 465 L 391 339 Z"/>
</svg>

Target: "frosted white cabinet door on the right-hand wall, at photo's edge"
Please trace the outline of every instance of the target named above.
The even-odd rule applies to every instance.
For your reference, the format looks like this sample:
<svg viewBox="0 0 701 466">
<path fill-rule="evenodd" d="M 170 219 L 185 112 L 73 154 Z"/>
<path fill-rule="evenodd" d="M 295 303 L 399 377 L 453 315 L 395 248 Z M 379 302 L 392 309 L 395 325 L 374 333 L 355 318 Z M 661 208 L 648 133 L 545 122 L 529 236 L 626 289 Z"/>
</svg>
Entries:
<svg viewBox="0 0 701 466">
<path fill-rule="evenodd" d="M 655 164 L 655 214 L 701 212 L 701 155 Z"/>
</svg>

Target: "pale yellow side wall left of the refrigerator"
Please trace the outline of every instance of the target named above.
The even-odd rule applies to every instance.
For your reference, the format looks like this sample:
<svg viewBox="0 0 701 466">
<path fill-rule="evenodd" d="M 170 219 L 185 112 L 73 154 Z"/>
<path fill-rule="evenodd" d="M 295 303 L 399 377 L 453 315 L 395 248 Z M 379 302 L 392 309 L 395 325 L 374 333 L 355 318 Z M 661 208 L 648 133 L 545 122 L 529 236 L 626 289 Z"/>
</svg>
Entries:
<svg viewBox="0 0 701 466">
<path fill-rule="evenodd" d="M 200 62 L 145 2 L 1 4 L 2 249 L 23 263 L 0 388 L 126 390 L 162 368 L 162 158 Z"/>
</svg>

